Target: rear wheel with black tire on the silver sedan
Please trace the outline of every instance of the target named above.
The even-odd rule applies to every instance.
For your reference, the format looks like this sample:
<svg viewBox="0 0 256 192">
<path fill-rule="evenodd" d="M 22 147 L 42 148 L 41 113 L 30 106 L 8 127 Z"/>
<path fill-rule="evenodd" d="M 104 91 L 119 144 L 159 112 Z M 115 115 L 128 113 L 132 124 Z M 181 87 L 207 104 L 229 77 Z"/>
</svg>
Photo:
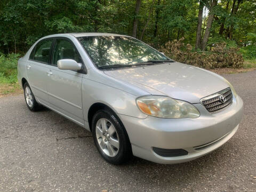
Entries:
<svg viewBox="0 0 256 192">
<path fill-rule="evenodd" d="M 31 111 L 38 111 L 41 109 L 41 105 L 39 105 L 35 99 L 35 96 L 33 94 L 33 92 L 31 91 L 31 88 L 29 86 L 29 84 L 26 82 L 24 84 L 24 97 L 25 97 L 25 102 L 29 108 L 29 110 Z"/>
</svg>

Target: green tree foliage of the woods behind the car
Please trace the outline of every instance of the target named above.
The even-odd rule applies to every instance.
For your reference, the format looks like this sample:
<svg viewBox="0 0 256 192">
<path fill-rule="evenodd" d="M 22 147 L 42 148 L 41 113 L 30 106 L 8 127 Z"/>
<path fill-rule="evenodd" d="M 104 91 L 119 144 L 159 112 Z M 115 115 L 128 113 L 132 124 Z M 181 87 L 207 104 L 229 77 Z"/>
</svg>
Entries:
<svg viewBox="0 0 256 192">
<path fill-rule="evenodd" d="M 212 0 L 201 1 L 206 13 L 201 28 L 203 37 Z M 237 7 L 238 1 L 219 0 L 212 10 L 214 20 L 206 50 L 211 52 L 217 44 L 225 43 L 225 50 L 230 47 L 232 52 L 234 47 L 241 47 L 245 58 L 254 59 L 256 0 L 240 1 Z M 231 13 L 234 2 L 237 11 Z M 185 37 L 183 43 L 195 46 L 199 0 L 143 0 L 137 15 L 135 5 L 136 0 L 1 0 L 0 52 L 23 54 L 37 39 L 57 33 L 132 35 L 134 18 L 138 19 L 137 38 L 156 49 L 181 37 Z M 229 37 L 230 28 L 233 35 Z"/>
</svg>

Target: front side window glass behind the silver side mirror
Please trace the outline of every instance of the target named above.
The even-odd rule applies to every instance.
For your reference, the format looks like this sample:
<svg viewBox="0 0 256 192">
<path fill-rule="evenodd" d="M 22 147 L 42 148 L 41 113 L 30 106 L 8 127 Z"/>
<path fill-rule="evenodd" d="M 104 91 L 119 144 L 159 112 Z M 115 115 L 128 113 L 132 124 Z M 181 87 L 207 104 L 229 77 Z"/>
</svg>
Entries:
<svg viewBox="0 0 256 192">
<path fill-rule="evenodd" d="M 74 44 L 66 39 L 57 39 L 53 48 L 52 64 L 57 65 L 57 61 L 60 59 L 73 59 L 81 63 L 81 59 Z"/>
</svg>

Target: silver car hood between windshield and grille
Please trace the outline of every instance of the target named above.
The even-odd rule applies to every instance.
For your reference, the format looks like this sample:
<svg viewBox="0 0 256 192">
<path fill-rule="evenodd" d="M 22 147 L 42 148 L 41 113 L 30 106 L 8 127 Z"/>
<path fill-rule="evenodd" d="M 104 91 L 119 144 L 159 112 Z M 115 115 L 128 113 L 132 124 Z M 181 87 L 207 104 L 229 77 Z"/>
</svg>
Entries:
<svg viewBox="0 0 256 192">
<path fill-rule="evenodd" d="M 199 103 L 207 95 L 226 89 L 225 78 L 211 71 L 179 62 L 106 70 L 105 74 L 132 84 L 149 94 Z"/>
</svg>

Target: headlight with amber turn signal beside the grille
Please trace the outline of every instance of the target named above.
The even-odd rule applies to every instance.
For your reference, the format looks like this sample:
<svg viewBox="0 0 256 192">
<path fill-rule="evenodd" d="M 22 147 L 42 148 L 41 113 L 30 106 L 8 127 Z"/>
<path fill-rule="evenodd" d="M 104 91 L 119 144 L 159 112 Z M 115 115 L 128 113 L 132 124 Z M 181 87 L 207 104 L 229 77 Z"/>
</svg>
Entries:
<svg viewBox="0 0 256 192">
<path fill-rule="evenodd" d="M 139 109 L 154 117 L 161 118 L 196 118 L 199 111 L 186 101 L 165 96 L 147 95 L 136 99 Z"/>
</svg>

